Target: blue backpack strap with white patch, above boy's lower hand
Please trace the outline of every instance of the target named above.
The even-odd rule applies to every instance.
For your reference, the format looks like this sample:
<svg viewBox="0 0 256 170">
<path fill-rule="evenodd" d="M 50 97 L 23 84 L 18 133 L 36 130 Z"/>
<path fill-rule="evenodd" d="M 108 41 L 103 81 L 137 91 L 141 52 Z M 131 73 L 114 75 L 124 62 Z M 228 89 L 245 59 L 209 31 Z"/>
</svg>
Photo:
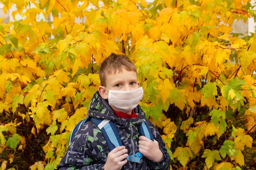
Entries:
<svg viewBox="0 0 256 170">
<path fill-rule="evenodd" d="M 114 122 L 107 119 L 97 118 L 92 118 L 92 122 L 96 124 L 103 133 L 110 151 L 116 148 L 117 146 L 123 145 L 121 137 L 117 130 L 117 126 L 114 124 Z"/>
</svg>

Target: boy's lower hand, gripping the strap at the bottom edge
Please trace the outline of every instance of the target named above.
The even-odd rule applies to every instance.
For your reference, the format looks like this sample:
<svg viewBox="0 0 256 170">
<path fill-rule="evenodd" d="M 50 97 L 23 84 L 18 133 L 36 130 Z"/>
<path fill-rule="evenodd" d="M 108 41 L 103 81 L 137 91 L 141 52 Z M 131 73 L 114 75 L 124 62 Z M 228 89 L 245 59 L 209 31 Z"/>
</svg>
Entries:
<svg viewBox="0 0 256 170">
<path fill-rule="evenodd" d="M 104 170 L 121 170 L 124 164 L 127 163 L 128 150 L 125 146 L 118 146 L 109 152 L 107 161 L 104 165 Z"/>
</svg>

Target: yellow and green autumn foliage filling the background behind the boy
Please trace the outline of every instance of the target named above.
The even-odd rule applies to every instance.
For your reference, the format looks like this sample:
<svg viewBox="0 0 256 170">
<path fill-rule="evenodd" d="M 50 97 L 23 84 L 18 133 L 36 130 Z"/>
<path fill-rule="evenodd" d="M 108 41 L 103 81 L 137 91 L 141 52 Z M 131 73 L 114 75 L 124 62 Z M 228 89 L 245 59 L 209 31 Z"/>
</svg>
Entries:
<svg viewBox="0 0 256 170">
<path fill-rule="evenodd" d="M 112 52 L 137 66 L 172 169 L 256 169 L 256 35 L 231 27 L 256 19 L 249 0 L 0 2 L 23 18 L 0 19 L 1 170 L 56 169 Z"/>
</svg>

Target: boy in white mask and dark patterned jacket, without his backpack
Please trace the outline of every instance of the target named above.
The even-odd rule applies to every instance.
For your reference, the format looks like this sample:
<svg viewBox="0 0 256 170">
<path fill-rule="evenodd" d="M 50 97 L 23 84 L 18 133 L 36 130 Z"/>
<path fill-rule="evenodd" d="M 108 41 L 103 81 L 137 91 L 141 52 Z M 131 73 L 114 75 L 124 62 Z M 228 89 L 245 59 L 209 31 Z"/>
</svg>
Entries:
<svg viewBox="0 0 256 170">
<path fill-rule="evenodd" d="M 92 97 L 88 116 L 115 123 L 124 146 L 112 151 L 97 126 L 86 122 L 67 149 L 58 170 L 169 170 L 170 156 L 155 126 L 139 106 L 143 89 L 139 87 L 135 65 L 126 55 L 112 53 L 99 70 L 101 86 Z M 154 141 L 139 136 L 138 126 L 146 120 Z M 128 155 L 141 152 L 139 163 Z"/>
</svg>

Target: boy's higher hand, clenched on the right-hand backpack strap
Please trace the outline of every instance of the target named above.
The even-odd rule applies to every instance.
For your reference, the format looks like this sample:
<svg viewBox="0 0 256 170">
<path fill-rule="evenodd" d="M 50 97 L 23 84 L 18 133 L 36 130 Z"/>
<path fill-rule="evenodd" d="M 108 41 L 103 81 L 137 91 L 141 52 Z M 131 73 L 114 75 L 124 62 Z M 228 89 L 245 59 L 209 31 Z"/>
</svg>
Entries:
<svg viewBox="0 0 256 170">
<path fill-rule="evenodd" d="M 151 161 L 159 162 L 163 159 L 163 153 L 159 149 L 158 142 L 147 137 L 139 137 L 139 152 Z"/>
</svg>

